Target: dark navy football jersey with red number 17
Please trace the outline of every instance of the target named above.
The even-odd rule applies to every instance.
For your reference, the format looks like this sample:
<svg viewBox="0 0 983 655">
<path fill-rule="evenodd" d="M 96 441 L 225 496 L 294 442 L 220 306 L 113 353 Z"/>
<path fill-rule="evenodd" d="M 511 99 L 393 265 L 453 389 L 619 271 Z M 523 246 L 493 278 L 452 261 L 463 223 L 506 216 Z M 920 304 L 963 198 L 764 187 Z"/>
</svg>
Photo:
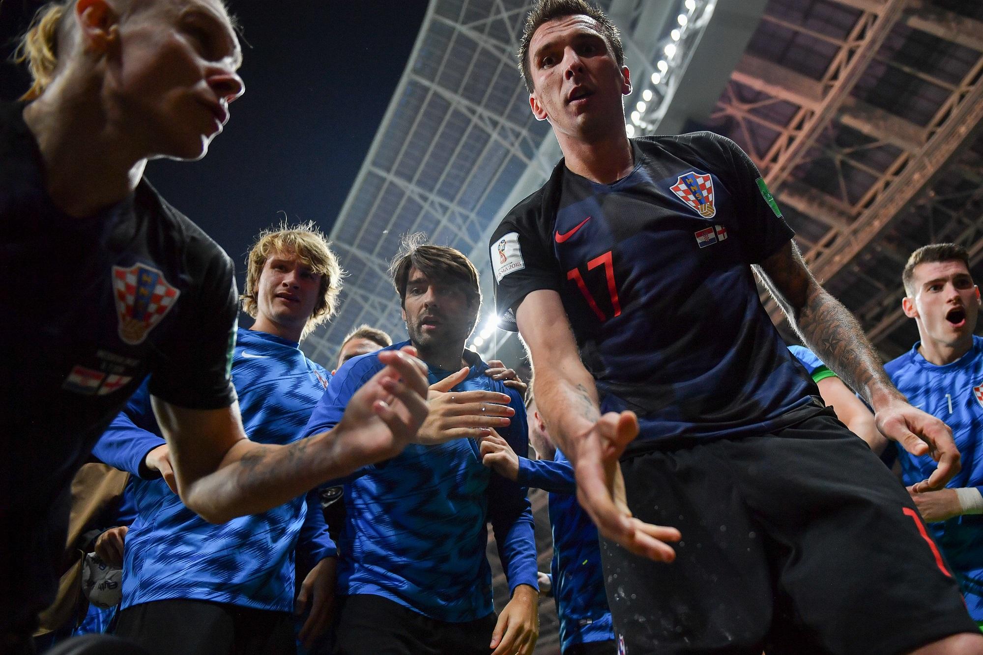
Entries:
<svg viewBox="0 0 983 655">
<path fill-rule="evenodd" d="M 503 327 L 559 293 L 604 411 L 640 439 L 742 437 L 821 405 L 758 297 L 751 266 L 792 236 L 757 168 L 711 133 L 632 140 L 635 167 L 597 184 L 561 161 L 491 241 Z"/>
</svg>

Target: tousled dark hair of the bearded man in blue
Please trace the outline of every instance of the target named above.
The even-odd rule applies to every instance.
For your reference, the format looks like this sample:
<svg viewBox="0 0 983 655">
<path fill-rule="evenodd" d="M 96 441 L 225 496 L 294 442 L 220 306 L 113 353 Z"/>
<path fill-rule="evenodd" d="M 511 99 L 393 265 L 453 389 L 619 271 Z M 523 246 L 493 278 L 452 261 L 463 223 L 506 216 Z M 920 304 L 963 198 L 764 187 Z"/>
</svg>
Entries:
<svg viewBox="0 0 983 655">
<path fill-rule="evenodd" d="M 402 307 L 406 307 L 406 283 L 410 268 L 416 268 L 433 280 L 459 283 L 468 304 L 478 303 L 481 307 L 482 290 L 478 284 L 478 269 L 456 248 L 427 243 L 427 235 L 423 232 L 403 237 L 399 252 L 389 264 L 389 275 Z"/>
</svg>

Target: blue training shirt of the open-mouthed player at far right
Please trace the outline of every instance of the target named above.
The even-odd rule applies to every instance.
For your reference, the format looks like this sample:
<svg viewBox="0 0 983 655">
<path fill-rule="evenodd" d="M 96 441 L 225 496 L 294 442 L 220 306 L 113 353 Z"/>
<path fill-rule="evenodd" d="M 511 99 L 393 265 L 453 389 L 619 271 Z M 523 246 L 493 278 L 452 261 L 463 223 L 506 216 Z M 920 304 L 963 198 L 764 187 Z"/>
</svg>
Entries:
<svg viewBox="0 0 983 655">
<path fill-rule="evenodd" d="M 884 368 L 897 389 L 915 407 L 936 416 L 953 430 L 962 468 L 947 485 L 976 487 L 983 492 L 983 337 L 945 366 L 936 366 L 918 353 L 920 341 Z M 929 455 L 912 455 L 896 443 L 905 485 L 921 482 L 936 464 Z M 935 539 L 953 568 L 974 621 L 983 621 L 983 515 L 965 514 L 930 523 Z"/>
</svg>

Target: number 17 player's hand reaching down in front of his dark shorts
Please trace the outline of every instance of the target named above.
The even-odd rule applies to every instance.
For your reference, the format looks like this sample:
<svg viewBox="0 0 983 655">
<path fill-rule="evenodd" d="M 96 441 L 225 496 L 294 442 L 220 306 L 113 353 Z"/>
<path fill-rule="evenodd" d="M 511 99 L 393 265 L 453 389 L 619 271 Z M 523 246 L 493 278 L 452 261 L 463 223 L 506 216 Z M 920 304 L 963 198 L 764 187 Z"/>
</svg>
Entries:
<svg viewBox="0 0 983 655">
<path fill-rule="evenodd" d="M 577 501 L 607 539 L 635 555 L 672 562 L 675 551 L 665 542 L 679 541 L 679 530 L 640 521 L 625 502 L 618 457 L 637 435 L 634 412 L 608 412 L 594 424 L 576 446 Z"/>
</svg>

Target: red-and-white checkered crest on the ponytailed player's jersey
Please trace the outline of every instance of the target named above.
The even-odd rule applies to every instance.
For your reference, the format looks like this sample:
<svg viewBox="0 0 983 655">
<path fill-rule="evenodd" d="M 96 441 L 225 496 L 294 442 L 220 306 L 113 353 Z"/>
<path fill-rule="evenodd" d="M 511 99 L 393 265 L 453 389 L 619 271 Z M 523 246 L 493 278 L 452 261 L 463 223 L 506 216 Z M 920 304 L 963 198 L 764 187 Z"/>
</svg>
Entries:
<svg viewBox="0 0 983 655">
<path fill-rule="evenodd" d="M 181 295 L 162 272 L 143 264 L 113 267 L 113 291 L 120 338 L 130 345 L 142 343 Z"/>
</svg>

